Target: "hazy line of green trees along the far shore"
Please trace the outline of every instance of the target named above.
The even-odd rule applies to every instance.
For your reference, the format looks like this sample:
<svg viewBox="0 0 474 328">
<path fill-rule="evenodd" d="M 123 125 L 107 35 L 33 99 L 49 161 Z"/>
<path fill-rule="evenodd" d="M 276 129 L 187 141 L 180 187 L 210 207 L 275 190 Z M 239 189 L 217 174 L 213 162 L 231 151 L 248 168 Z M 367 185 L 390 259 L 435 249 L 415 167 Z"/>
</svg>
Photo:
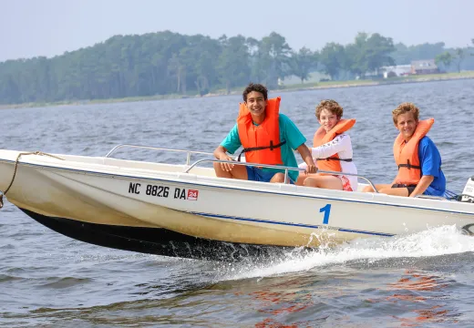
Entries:
<svg viewBox="0 0 474 328">
<path fill-rule="evenodd" d="M 473 41 L 474 44 L 474 41 Z M 460 49 L 460 50 L 459 50 Z M 278 87 L 296 76 L 304 83 L 321 71 L 331 79 L 364 78 L 381 67 L 437 57 L 446 69 L 474 68 L 470 47 L 444 43 L 394 45 L 378 33 L 358 33 L 353 43 L 327 43 L 321 50 L 295 51 L 284 36 L 185 36 L 170 31 L 112 36 L 61 56 L 0 63 L 0 104 L 200 94 L 242 87 L 249 81 Z M 459 51 L 461 51 L 459 53 Z M 462 59 L 459 59 L 461 58 Z"/>
</svg>

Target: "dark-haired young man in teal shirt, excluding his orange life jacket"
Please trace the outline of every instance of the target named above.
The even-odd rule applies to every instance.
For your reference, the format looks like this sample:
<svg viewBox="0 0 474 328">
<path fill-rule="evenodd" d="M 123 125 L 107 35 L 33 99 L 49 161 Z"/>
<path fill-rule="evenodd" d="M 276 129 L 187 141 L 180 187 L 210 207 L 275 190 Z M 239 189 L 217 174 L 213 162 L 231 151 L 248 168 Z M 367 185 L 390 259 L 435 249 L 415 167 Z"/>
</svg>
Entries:
<svg viewBox="0 0 474 328">
<path fill-rule="evenodd" d="M 266 118 L 266 106 L 268 100 L 268 90 L 261 84 L 250 84 L 245 88 L 242 94 L 244 104 L 252 115 L 252 124 L 255 126 L 261 125 Z M 294 125 L 293 121 L 283 114 L 278 116 L 279 134 L 281 144 L 281 159 L 283 166 L 297 168 L 298 164 L 294 158 L 294 151 L 296 149 L 304 162 L 308 165 L 307 173 L 315 173 L 316 167 L 314 165 L 313 157 L 310 150 L 304 145 L 306 138 Z M 280 145 L 281 145 L 280 144 Z M 216 159 L 233 160 L 226 152 L 233 154 L 235 150 L 242 146 L 242 141 L 239 136 L 239 126 L 236 124 L 231 132 L 222 141 L 221 145 L 214 150 Z M 265 145 L 266 146 L 266 145 Z M 258 151 L 258 150 L 256 150 Z M 220 178 L 229 179 L 249 179 L 263 182 L 283 182 L 284 169 L 271 168 L 257 168 L 243 165 L 233 165 L 232 163 L 214 163 L 216 176 Z M 290 170 L 289 176 L 295 181 L 298 178 L 297 170 Z M 291 181 L 291 182 L 293 182 Z"/>
</svg>

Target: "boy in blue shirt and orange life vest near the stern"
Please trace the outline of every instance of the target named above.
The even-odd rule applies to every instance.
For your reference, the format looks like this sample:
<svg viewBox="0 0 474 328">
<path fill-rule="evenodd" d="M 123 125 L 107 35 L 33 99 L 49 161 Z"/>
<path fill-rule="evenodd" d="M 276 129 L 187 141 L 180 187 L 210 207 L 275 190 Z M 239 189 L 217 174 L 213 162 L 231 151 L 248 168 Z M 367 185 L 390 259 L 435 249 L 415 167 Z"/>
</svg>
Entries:
<svg viewBox="0 0 474 328">
<path fill-rule="evenodd" d="M 419 109 L 412 103 L 400 104 L 392 111 L 394 124 L 400 133 L 394 143 L 397 177 L 389 185 L 376 185 L 388 195 L 415 197 L 443 196 L 446 179 L 441 170 L 441 156 L 434 142 L 426 136 L 434 118 L 418 121 Z M 367 186 L 364 191 L 373 192 Z"/>
</svg>

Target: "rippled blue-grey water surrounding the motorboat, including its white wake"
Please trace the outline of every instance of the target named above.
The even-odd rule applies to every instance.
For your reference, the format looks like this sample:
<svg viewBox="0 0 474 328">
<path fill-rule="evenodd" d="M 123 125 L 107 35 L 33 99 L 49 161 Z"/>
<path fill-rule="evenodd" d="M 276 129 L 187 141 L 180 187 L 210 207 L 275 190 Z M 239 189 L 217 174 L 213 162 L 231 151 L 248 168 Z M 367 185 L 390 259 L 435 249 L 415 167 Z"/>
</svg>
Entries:
<svg viewBox="0 0 474 328">
<path fill-rule="evenodd" d="M 394 178 L 391 110 L 413 101 L 443 158 L 448 189 L 473 175 L 474 80 L 281 93 L 306 138 L 314 106 L 335 98 L 357 169 Z M 270 95 L 277 96 L 276 94 Z M 118 143 L 212 151 L 232 128 L 240 97 L 5 109 L 3 149 L 103 156 Z M 310 143 L 308 142 L 308 145 Z M 118 157 L 182 162 L 135 151 Z M 383 218 L 380 218 L 383 220 Z M 401 327 L 474 324 L 474 239 L 446 226 L 359 240 L 272 263 L 220 263 L 109 250 L 50 231 L 6 202 L 0 210 L 0 325 Z"/>
</svg>

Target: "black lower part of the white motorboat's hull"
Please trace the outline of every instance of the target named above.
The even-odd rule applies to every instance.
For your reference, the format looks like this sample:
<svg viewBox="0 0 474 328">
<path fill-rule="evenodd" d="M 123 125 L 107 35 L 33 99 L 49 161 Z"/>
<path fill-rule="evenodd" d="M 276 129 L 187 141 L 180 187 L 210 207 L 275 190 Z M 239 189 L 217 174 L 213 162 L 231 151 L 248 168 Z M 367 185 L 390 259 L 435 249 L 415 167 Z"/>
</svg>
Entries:
<svg viewBox="0 0 474 328">
<path fill-rule="evenodd" d="M 195 260 L 242 261 L 249 258 L 270 260 L 293 250 L 288 247 L 212 241 L 162 228 L 114 226 L 48 217 L 31 210 L 20 210 L 52 231 L 77 241 L 123 251 Z"/>
</svg>

